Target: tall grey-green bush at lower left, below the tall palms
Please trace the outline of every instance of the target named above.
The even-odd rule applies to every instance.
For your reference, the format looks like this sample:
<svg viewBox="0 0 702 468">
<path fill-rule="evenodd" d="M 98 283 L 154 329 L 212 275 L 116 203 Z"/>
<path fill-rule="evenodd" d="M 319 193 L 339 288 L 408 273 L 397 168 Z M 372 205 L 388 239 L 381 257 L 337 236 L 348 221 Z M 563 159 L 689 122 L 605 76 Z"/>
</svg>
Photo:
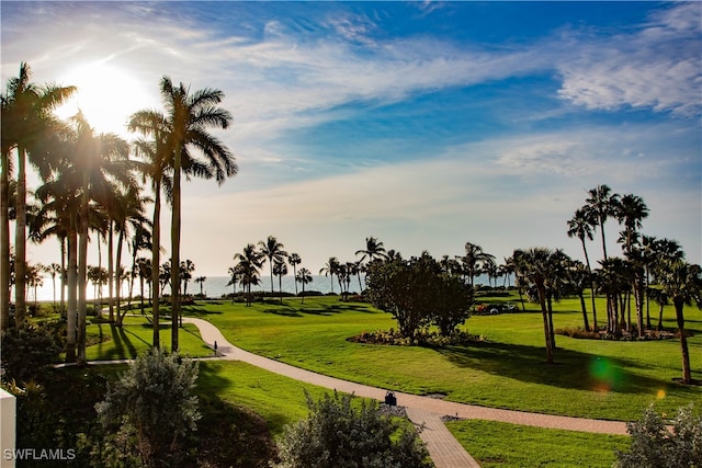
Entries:
<svg viewBox="0 0 702 468">
<path fill-rule="evenodd" d="M 109 441 L 115 458 L 136 449 L 146 465 L 177 461 L 178 438 L 195 431 L 200 419 L 191 395 L 196 378 L 197 364 L 177 353 L 150 350 L 139 356 L 95 404 L 103 426 L 116 429 Z"/>
</svg>

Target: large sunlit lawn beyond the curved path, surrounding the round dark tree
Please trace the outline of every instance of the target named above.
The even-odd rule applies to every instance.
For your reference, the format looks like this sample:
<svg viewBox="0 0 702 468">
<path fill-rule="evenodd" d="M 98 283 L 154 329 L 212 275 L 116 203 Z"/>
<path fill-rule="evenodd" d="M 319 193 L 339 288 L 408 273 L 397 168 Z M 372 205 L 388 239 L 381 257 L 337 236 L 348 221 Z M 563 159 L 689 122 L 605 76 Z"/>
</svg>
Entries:
<svg viewBox="0 0 702 468">
<path fill-rule="evenodd" d="M 508 300 L 516 300 L 511 298 Z M 600 317 L 604 303 L 600 300 Z M 466 326 L 487 342 L 445 349 L 358 344 L 347 338 L 396 327 L 367 304 L 337 297 L 229 305 L 202 303 L 185 313 L 206 318 L 248 351 L 381 388 L 449 400 L 553 414 L 633 420 L 656 402 L 672 412 L 702 399 L 701 387 L 678 385 L 678 340 L 609 342 L 556 336 L 556 364 L 545 363 L 541 312 L 476 316 Z M 702 313 L 687 309 L 693 378 L 702 379 Z M 675 328 L 672 308 L 665 326 Z M 579 301 L 556 304 L 556 328 L 581 322 Z M 600 319 L 600 324 L 602 324 Z"/>
</svg>

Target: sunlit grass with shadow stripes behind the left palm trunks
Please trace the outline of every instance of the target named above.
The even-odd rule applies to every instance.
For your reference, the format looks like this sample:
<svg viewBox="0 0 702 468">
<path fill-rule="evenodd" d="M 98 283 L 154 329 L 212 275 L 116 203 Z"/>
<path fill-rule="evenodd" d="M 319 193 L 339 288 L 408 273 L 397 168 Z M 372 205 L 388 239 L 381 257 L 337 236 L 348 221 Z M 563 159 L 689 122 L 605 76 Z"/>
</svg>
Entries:
<svg viewBox="0 0 702 468">
<path fill-rule="evenodd" d="M 160 323 L 161 346 L 170 349 L 170 322 Z M 113 323 L 90 323 L 87 334 L 101 341 L 88 346 L 86 354 L 89 361 L 133 359 L 151 347 L 154 329 L 143 316 L 126 316 L 122 328 Z M 106 336 L 105 336 L 106 335 Z M 181 354 L 191 357 L 211 356 L 212 350 L 202 341 L 200 330 L 191 323 L 183 323 L 180 329 L 179 343 Z"/>
</svg>

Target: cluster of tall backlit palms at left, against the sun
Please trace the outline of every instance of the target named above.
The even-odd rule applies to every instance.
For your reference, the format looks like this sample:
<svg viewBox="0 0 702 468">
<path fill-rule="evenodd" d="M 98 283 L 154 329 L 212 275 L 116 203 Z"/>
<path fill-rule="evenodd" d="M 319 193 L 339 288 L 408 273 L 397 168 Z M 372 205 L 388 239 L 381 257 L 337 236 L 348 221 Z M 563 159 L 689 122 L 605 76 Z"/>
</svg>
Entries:
<svg viewBox="0 0 702 468">
<path fill-rule="evenodd" d="M 133 259 L 139 250 L 151 250 L 151 264 L 160 265 L 161 195 L 171 205 L 171 284 L 180 284 L 181 174 L 215 179 L 223 183 L 237 173 L 231 151 L 208 128 L 227 128 L 231 115 L 218 104 L 219 90 L 191 92 L 170 78 L 160 81 L 163 111 L 144 110 L 129 118 L 127 128 L 139 135 L 127 142 L 116 134 L 98 134 L 79 112 L 68 121 L 53 111 L 75 93 L 75 87 L 37 85 L 31 70 L 20 65 L 18 77 L 9 80 L 2 94 L 2 172 L 0 176 L 0 327 L 10 321 L 10 206 L 15 218 L 14 287 L 15 322 L 26 317 L 27 220 L 33 239 L 56 237 L 61 246 L 61 271 L 68 283 L 67 359 L 86 363 L 86 292 L 90 232 L 107 238 L 111 318 L 120 316 L 118 281 L 125 239 L 132 239 Z M 11 156 L 15 155 L 13 159 Z M 15 162 L 16 160 L 16 162 Z M 26 187 L 26 163 L 42 180 L 33 193 Z M 16 172 L 16 184 L 11 174 Z M 16 193 L 11 194 L 11 186 Z M 152 194 L 152 198 L 145 195 Z M 27 216 L 29 195 L 41 202 L 34 216 Z M 12 195 L 12 196 L 11 196 Z M 151 220 L 146 205 L 154 206 Z M 117 235 L 116 249 L 113 246 Z M 113 249 L 116 252 L 113 255 Z M 152 284 L 159 284 L 159 269 L 151 269 Z M 186 283 L 185 283 L 186 284 Z M 186 286 L 185 286 L 186 287 Z M 159 339 L 159 288 L 151 288 L 154 346 Z M 171 295 L 171 349 L 179 347 L 178 317 L 180 288 Z"/>
</svg>

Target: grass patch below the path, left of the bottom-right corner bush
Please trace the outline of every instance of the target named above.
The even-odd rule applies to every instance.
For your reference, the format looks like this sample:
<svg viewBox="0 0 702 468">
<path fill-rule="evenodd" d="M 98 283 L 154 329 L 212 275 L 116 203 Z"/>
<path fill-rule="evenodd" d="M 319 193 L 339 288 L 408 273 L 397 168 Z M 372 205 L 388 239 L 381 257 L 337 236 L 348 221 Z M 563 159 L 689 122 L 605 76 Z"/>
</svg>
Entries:
<svg viewBox="0 0 702 468">
<path fill-rule="evenodd" d="M 483 468 L 611 467 L 614 449 L 626 450 L 626 436 L 529 427 L 490 421 L 446 423 Z"/>
</svg>

